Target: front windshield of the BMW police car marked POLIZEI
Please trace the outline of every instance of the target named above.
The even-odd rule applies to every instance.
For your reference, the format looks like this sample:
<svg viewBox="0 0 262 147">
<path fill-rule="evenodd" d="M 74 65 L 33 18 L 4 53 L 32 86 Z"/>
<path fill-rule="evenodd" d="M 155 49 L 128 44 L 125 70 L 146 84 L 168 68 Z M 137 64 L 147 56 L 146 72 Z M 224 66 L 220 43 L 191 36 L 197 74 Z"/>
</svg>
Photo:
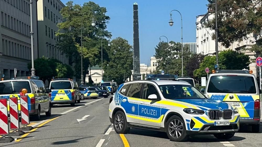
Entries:
<svg viewBox="0 0 262 147">
<path fill-rule="evenodd" d="M 191 85 L 160 85 L 166 99 L 205 99 L 205 96 Z"/>
</svg>

